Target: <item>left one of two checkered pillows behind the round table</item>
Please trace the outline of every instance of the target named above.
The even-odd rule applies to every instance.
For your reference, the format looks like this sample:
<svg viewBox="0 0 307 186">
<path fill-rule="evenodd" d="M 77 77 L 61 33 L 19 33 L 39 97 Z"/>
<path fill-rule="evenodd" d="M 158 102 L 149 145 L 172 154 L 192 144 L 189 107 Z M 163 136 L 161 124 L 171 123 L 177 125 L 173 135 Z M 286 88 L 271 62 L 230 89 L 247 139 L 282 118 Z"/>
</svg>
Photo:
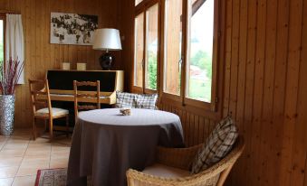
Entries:
<svg viewBox="0 0 307 186">
<path fill-rule="evenodd" d="M 116 105 L 120 108 L 133 108 L 137 106 L 137 94 L 127 92 L 116 92 Z"/>
</svg>

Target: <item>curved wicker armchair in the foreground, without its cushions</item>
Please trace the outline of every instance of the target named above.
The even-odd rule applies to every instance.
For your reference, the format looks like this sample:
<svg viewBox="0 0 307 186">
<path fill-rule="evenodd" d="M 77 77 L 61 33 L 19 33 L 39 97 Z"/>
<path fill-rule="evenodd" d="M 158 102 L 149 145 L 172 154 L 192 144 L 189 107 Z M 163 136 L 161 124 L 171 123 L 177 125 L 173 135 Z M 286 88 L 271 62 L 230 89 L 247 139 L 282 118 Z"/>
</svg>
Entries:
<svg viewBox="0 0 307 186">
<path fill-rule="evenodd" d="M 165 148 L 158 147 L 158 163 L 174 167 L 180 170 L 189 171 L 190 164 L 194 160 L 198 149 L 203 144 L 189 148 Z M 235 161 L 239 158 L 245 148 L 243 137 L 239 137 L 234 149 L 228 153 L 223 160 L 210 168 L 197 174 L 186 177 L 169 178 L 149 175 L 147 173 L 128 170 L 126 172 L 129 186 L 222 186 L 232 169 Z"/>
</svg>

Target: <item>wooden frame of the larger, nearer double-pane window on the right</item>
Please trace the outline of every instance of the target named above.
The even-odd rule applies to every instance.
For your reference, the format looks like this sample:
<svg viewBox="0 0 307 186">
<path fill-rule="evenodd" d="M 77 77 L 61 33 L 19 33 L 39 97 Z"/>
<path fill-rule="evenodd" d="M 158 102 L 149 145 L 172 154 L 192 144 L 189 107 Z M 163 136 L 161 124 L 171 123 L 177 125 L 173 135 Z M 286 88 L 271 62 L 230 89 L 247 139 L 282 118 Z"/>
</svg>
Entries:
<svg viewBox="0 0 307 186">
<path fill-rule="evenodd" d="M 212 53 L 212 85 L 211 85 L 211 102 L 205 102 L 197 99 L 187 98 L 187 60 L 188 59 L 188 4 L 187 0 L 183 1 L 182 5 L 182 65 L 181 65 L 181 87 L 180 87 L 180 95 L 173 95 L 167 92 L 164 92 L 164 68 L 160 68 L 160 83 L 159 86 L 160 91 L 159 95 L 161 95 L 162 101 L 176 101 L 180 102 L 183 107 L 191 106 L 191 107 L 199 107 L 209 111 L 217 111 L 217 88 L 218 88 L 218 63 L 219 63 L 219 48 L 220 48 L 220 33 L 221 33 L 221 16 L 219 15 L 220 10 L 220 0 L 214 0 L 214 36 L 213 36 L 213 53 Z M 165 35 L 165 17 L 166 17 L 166 0 L 163 0 L 161 3 L 161 20 L 163 23 L 161 24 L 161 34 Z M 160 42 L 160 61 L 164 62 L 164 54 L 165 54 L 165 37 L 161 37 Z"/>
</svg>

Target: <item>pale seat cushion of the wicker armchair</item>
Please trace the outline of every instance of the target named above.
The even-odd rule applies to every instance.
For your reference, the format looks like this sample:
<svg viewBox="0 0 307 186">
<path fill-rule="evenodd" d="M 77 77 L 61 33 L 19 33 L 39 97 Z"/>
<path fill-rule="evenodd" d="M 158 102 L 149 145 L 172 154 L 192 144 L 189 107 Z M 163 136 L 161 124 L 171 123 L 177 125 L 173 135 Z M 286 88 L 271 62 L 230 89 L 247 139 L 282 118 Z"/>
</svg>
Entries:
<svg viewBox="0 0 307 186">
<path fill-rule="evenodd" d="M 160 163 L 155 163 L 146 167 L 143 173 L 165 178 L 180 178 L 191 175 L 190 172 L 186 170 L 177 169 Z"/>
</svg>

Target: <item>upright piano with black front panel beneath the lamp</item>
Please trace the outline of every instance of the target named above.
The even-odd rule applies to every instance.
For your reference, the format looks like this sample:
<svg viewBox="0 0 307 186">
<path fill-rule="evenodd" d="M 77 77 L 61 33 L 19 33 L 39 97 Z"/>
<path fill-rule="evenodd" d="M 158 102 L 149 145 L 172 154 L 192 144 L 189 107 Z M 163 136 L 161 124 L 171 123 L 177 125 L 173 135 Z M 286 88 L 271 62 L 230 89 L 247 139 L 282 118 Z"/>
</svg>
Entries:
<svg viewBox="0 0 307 186">
<path fill-rule="evenodd" d="M 46 73 L 52 101 L 73 102 L 73 80 L 100 80 L 101 104 L 107 105 L 116 103 L 116 91 L 123 90 L 123 78 L 122 70 L 48 70 Z M 91 91 L 86 87 L 82 90 Z"/>
</svg>

